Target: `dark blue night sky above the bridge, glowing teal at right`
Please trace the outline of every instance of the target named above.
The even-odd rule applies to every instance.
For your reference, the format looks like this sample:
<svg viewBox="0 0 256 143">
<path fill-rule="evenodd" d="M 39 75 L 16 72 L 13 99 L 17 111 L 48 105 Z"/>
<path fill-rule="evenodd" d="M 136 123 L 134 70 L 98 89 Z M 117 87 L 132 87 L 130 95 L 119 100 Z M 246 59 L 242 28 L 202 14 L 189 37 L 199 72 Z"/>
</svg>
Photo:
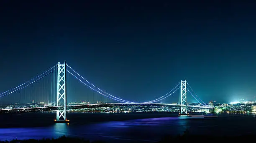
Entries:
<svg viewBox="0 0 256 143">
<path fill-rule="evenodd" d="M 101 89 L 128 100 L 155 99 L 182 79 L 205 102 L 253 100 L 255 7 L 1 0 L 0 92 L 66 60 Z"/>
</svg>

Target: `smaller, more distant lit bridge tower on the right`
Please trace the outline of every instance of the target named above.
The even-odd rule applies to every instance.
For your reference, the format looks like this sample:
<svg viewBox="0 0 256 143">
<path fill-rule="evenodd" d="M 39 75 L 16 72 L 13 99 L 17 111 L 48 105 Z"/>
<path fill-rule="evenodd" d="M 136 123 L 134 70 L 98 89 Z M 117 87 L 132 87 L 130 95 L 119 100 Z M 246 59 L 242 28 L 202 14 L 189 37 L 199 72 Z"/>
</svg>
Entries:
<svg viewBox="0 0 256 143">
<path fill-rule="evenodd" d="M 187 80 L 185 79 L 185 81 L 181 80 L 181 106 L 180 107 L 180 113 L 181 114 L 187 114 Z"/>
</svg>

